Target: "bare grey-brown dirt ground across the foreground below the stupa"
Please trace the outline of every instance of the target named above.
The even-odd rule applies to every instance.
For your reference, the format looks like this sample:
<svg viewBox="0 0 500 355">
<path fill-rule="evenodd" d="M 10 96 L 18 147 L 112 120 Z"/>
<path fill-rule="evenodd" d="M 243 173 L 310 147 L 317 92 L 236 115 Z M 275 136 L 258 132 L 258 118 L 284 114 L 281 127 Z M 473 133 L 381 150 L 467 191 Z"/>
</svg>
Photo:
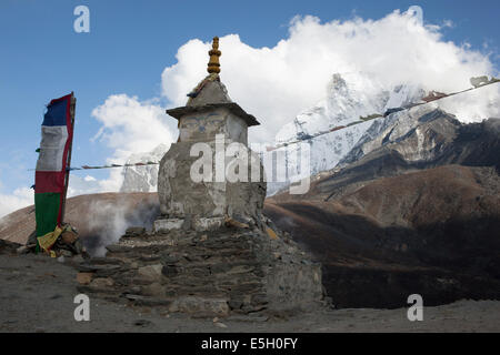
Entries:
<svg viewBox="0 0 500 355">
<path fill-rule="evenodd" d="M 424 307 L 346 308 L 296 316 L 192 318 L 154 307 L 90 298 L 90 321 L 76 322 L 77 271 L 44 255 L 0 254 L 0 332 L 500 332 L 500 302 L 459 301 Z"/>
</svg>

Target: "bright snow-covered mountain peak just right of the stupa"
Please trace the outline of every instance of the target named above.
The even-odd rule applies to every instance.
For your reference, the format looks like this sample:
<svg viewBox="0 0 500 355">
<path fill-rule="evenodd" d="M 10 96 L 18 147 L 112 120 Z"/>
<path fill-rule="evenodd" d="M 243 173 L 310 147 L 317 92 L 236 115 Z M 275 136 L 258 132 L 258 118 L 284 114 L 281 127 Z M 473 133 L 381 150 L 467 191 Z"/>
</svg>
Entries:
<svg viewBox="0 0 500 355">
<path fill-rule="evenodd" d="M 339 73 L 333 74 L 328 84 L 326 98 L 312 108 L 300 112 L 276 136 L 278 145 L 297 141 L 310 144 L 311 175 L 333 169 L 366 131 L 382 119 L 347 126 L 349 123 L 359 121 L 360 116 L 381 114 L 387 109 L 418 102 L 424 95 L 423 90 L 416 85 L 401 84 L 393 89 L 383 88 L 380 82 L 366 73 L 350 73 L 346 77 Z M 331 131 L 338 126 L 347 128 Z M 312 138 L 320 132 L 324 134 Z M 287 151 L 287 156 L 294 156 L 297 149 L 297 144 L 289 144 L 280 150 Z M 292 158 L 287 163 L 287 171 L 291 173 L 297 171 Z M 268 192 L 273 194 L 284 185 L 268 183 Z"/>
</svg>

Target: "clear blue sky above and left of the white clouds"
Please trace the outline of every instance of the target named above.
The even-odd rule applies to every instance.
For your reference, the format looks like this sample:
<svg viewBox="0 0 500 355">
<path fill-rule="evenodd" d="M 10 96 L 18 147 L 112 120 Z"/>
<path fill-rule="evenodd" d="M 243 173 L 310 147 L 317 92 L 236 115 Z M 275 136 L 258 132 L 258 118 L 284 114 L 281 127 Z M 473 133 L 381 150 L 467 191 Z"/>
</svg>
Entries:
<svg viewBox="0 0 500 355">
<path fill-rule="evenodd" d="M 90 33 L 73 31 L 74 7 L 90 9 Z M 44 104 L 74 91 L 77 125 L 73 165 L 100 164 L 112 150 L 92 141 L 101 123 L 91 111 L 109 95 L 139 100 L 161 97 L 161 73 L 177 62 L 191 39 L 238 33 L 254 47 L 274 47 L 288 37 L 290 20 L 321 21 L 354 16 L 379 19 L 410 6 L 426 23 L 443 24 L 446 41 L 468 42 L 498 69 L 500 2 L 492 1 L 22 1 L 0 2 L 0 196 L 33 183 Z M 200 78 L 201 79 L 201 78 Z M 190 83 L 192 85 L 194 83 Z M 78 174 L 78 173 L 77 173 Z M 99 174 L 94 175 L 99 178 Z M 102 176 L 102 175 L 101 175 Z"/>
</svg>

